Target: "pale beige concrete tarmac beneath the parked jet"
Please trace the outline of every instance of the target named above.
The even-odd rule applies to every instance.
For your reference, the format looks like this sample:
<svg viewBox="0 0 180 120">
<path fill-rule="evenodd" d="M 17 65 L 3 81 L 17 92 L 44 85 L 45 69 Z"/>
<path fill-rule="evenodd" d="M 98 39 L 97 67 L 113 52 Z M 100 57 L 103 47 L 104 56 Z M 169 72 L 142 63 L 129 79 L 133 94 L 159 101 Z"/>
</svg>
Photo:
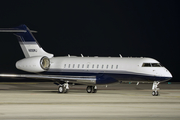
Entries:
<svg viewBox="0 0 180 120">
<path fill-rule="evenodd" d="M 86 93 L 70 86 L 59 94 L 52 82 L 0 82 L 0 120 L 179 120 L 180 84 L 112 84 Z"/>
</svg>

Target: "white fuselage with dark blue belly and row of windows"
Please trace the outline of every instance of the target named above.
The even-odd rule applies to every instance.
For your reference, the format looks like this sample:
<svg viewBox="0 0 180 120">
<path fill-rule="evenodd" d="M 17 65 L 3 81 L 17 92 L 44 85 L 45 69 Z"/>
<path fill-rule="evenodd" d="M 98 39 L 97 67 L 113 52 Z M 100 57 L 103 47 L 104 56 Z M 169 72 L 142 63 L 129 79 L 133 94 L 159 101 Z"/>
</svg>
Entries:
<svg viewBox="0 0 180 120">
<path fill-rule="evenodd" d="M 96 84 L 117 81 L 167 81 L 171 73 L 152 58 L 53 57 L 46 73 L 97 76 Z"/>
</svg>

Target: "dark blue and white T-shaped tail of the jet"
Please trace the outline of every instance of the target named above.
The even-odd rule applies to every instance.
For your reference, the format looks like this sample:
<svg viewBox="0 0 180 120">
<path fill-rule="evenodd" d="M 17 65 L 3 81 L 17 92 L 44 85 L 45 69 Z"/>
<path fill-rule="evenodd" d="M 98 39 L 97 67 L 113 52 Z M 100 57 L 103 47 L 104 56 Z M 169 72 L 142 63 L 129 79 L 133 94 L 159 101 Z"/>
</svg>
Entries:
<svg viewBox="0 0 180 120">
<path fill-rule="evenodd" d="M 47 56 L 53 57 L 53 54 L 45 52 L 33 36 L 33 32 L 26 25 L 20 25 L 15 28 L 1 28 L 0 32 L 11 32 L 16 35 L 19 40 L 19 44 L 26 58 L 35 56 Z"/>
</svg>

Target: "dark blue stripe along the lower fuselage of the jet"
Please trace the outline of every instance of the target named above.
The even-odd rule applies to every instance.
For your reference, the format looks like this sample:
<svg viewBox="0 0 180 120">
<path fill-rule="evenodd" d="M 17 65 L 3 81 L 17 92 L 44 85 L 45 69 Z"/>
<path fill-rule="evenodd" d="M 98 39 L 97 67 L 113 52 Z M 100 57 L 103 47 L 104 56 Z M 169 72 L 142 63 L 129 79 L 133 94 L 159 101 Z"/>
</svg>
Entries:
<svg viewBox="0 0 180 120">
<path fill-rule="evenodd" d="M 50 75 L 69 75 L 69 76 L 96 76 L 96 84 L 109 84 L 118 81 L 167 81 L 171 78 L 169 77 L 160 77 L 160 76 L 151 76 L 147 74 L 139 74 L 133 72 L 124 73 L 91 73 L 91 72 L 60 72 L 60 71 L 46 71 L 44 74 Z"/>
</svg>

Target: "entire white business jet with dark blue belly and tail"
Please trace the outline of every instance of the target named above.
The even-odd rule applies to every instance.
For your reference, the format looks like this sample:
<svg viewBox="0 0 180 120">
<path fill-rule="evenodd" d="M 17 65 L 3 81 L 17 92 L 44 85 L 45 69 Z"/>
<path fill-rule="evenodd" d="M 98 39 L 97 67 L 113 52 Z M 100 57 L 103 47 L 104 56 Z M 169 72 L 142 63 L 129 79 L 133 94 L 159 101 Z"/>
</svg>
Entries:
<svg viewBox="0 0 180 120">
<path fill-rule="evenodd" d="M 87 85 L 87 93 L 96 93 L 99 84 L 115 82 L 153 82 L 152 95 L 158 96 L 158 84 L 172 78 L 171 73 L 157 60 L 132 57 L 54 57 L 38 44 L 26 25 L 2 28 L 18 38 L 25 58 L 16 68 L 36 74 L 0 74 L 1 77 L 49 79 L 57 84 L 59 93 L 67 93 L 69 84 Z"/>
</svg>

